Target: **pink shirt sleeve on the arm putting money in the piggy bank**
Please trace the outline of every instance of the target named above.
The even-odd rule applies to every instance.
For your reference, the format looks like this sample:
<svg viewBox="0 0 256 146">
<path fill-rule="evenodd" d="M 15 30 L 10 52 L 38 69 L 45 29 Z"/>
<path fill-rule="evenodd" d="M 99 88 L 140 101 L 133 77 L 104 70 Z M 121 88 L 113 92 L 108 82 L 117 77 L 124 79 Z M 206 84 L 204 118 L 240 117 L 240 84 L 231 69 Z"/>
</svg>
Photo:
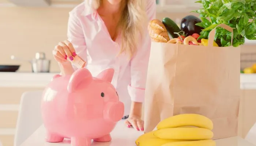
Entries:
<svg viewBox="0 0 256 146">
<path fill-rule="evenodd" d="M 73 11 L 69 12 L 67 37 L 68 41 L 74 46 L 76 54 L 80 57 L 82 56 L 84 61 L 87 62 L 87 55 L 84 54 L 86 53 L 86 42 L 84 39 L 82 24 L 79 21 L 78 15 Z M 80 53 L 83 54 L 80 55 Z M 74 65 L 72 66 L 75 70 L 77 69 Z"/>
</svg>

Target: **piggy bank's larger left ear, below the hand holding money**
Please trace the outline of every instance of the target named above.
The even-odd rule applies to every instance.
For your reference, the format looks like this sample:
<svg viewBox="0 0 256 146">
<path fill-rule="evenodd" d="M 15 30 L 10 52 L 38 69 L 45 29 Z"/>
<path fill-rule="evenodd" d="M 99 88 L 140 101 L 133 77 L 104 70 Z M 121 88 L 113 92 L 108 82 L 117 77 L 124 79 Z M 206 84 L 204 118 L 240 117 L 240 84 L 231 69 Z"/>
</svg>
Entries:
<svg viewBox="0 0 256 146">
<path fill-rule="evenodd" d="M 86 68 L 76 70 L 69 79 L 68 92 L 72 93 L 78 89 L 86 87 L 93 81 L 93 76 Z"/>
</svg>

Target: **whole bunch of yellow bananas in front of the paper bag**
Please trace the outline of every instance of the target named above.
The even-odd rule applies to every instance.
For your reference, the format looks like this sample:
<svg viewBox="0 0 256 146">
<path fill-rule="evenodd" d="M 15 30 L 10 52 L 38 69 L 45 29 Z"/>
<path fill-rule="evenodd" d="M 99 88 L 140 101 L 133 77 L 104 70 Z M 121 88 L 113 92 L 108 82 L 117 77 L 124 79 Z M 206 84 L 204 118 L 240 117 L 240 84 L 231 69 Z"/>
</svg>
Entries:
<svg viewBox="0 0 256 146">
<path fill-rule="evenodd" d="M 141 135 L 137 146 L 216 146 L 213 123 L 198 114 L 181 114 L 162 120 L 157 130 Z"/>
</svg>

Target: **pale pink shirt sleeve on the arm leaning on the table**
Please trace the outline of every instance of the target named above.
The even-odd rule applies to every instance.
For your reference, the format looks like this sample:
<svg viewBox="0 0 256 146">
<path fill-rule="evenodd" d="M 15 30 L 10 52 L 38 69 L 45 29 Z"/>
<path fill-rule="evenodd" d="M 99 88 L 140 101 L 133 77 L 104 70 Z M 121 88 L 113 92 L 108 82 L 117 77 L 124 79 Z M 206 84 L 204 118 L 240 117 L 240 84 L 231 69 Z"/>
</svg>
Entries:
<svg viewBox="0 0 256 146">
<path fill-rule="evenodd" d="M 147 0 L 146 7 L 148 22 L 156 17 L 155 0 Z M 147 28 L 147 27 L 145 27 Z M 138 45 L 136 55 L 131 59 L 131 84 L 128 86 L 128 92 L 131 100 L 135 102 L 144 102 L 148 59 L 150 55 L 151 39 L 146 30 L 145 37 Z"/>
</svg>

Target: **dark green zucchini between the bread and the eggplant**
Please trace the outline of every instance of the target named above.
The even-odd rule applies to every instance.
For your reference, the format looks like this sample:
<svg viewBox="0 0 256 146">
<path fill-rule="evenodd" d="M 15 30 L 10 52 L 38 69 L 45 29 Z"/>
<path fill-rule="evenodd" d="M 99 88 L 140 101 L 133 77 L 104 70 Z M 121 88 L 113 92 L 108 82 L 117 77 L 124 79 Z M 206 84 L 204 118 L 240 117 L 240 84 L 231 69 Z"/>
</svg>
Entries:
<svg viewBox="0 0 256 146">
<path fill-rule="evenodd" d="M 172 19 L 167 17 L 163 18 L 162 23 L 165 25 L 170 39 L 179 37 L 177 34 L 174 34 L 174 32 L 180 32 L 181 30 Z"/>
</svg>

